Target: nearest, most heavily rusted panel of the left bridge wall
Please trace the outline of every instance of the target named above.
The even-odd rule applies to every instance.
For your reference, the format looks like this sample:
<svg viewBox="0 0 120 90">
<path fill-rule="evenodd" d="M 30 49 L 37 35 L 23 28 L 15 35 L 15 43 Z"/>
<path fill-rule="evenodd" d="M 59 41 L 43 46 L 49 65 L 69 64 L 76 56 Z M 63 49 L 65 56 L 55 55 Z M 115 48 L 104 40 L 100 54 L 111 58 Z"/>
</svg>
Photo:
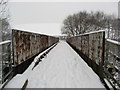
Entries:
<svg viewBox="0 0 120 90">
<path fill-rule="evenodd" d="M 22 31 L 14 31 L 14 60 L 20 64 L 30 57 L 30 34 Z"/>
</svg>

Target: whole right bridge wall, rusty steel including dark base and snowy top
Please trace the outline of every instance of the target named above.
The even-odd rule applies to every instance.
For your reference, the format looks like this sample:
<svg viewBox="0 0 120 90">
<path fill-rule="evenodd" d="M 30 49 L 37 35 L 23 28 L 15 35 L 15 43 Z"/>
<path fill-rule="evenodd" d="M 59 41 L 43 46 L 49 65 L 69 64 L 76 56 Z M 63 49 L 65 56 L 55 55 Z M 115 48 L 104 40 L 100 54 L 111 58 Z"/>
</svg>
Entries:
<svg viewBox="0 0 120 90">
<path fill-rule="evenodd" d="M 92 67 L 92 69 L 100 76 L 102 74 L 102 66 L 104 64 L 104 44 L 105 32 L 96 31 L 67 39 L 67 42 L 80 54 L 80 56 Z"/>
</svg>

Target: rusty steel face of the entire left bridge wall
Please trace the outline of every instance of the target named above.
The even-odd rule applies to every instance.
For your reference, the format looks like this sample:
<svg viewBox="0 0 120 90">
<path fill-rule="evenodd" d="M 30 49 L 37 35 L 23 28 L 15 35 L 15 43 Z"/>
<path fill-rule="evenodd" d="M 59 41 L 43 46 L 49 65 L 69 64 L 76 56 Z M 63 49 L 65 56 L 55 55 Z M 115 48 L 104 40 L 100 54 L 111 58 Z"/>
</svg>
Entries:
<svg viewBox="0 0 120 90">
<path fill-rule="evenodd" d="M 12 30 L 12 34 L 14 65 L 21 64 L 59 40 L 55 37 L 20 30 Z"/>
</svg>

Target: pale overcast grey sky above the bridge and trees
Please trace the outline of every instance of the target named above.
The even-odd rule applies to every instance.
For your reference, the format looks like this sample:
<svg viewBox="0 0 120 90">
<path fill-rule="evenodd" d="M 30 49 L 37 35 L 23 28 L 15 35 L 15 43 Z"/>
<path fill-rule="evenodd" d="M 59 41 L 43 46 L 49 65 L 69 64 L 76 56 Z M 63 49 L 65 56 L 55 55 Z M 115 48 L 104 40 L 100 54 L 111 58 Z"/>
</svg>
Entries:
<svg viewBox="0 0 120 90">
<path fill-rule="evenodd" d="M 107 14 L 116 16 L 118 14 L 117 2 L 10 2 L 9 5 L 13 28 L 34 29 L 39 32 L 38 28 L 40 28 L 41 23 L 50 23 L 51 25 L 56 23 L 55 27 L 57 26 L 56 29 L 59 31 L 55 31 L 52 26 L 53 30 L 50 32 L 55 32 L 53 34 L 60 34 L 60 26 L 66 16 L 79 11 L 100 10 Z"/>
</svg>

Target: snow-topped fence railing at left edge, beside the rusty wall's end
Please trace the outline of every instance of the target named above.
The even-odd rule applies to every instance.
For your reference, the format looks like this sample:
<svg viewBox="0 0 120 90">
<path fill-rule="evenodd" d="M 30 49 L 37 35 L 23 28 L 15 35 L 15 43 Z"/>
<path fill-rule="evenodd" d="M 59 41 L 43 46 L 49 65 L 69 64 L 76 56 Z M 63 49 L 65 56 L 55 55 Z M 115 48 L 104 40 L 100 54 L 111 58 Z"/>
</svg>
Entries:
<svg viewBox="0 0 120 90">
<path fill-rule="evenodd" d="M 11 40 L 6 40 L 0 42 L 0 84 L 10 79 L 11 73 Z"/>
</svg>

